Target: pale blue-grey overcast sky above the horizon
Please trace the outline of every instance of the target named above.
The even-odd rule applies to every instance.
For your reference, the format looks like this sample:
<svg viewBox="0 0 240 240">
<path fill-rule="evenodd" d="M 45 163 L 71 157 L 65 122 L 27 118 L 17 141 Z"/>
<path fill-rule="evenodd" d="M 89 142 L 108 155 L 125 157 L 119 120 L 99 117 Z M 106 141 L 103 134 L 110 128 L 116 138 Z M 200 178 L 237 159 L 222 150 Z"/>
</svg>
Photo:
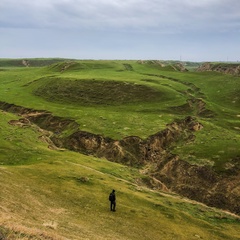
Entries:
<svg viewBox="0 0 240 240">
<path fill-rule="evenodd" d="M 0 0 L 0 58 L 240 61 L 240 0 Z"/>
</svg>

